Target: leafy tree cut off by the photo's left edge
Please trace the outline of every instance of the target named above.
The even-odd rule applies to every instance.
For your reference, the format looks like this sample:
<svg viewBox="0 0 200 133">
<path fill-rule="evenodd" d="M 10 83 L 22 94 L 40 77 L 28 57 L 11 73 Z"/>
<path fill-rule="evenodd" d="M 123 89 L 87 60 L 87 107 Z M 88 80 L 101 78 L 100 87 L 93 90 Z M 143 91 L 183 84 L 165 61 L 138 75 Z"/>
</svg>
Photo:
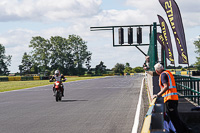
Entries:
<svg viewBox="0 0 200 133">
<path fill-rule="evenodd" d="M 5 55 L 5 47 L 0 44 L 0 74 L 8 74 L 8 66 L 11 65 L 11 55 Z"/>
</svg>

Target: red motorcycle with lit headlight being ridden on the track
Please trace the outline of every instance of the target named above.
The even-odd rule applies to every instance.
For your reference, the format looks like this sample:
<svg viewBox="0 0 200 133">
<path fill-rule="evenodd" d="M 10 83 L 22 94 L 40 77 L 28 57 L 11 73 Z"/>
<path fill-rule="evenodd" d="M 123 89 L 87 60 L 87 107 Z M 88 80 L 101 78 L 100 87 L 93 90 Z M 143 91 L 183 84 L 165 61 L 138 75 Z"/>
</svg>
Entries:
<svg viewBox="0 0 200 133">
<path fill-rule="evenodd" d="M 53 82 L 53 80 L 50 80 L 49 82 Z M 62 80 L 62 82 L 65 82 L 65 80 Z M 60 81 L 54 82 L 54 96 L 55 96 L 56 102 L 62 100 L 62 88 L 63 88 L 63 85 L 61 84 Z"/>
</svg>

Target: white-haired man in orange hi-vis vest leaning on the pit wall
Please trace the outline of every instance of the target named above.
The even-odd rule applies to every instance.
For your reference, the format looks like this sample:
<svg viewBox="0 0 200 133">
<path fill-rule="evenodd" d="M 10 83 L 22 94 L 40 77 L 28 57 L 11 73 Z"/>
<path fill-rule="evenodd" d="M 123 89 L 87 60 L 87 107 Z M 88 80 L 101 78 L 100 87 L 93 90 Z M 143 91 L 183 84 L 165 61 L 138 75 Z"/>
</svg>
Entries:
<svg viewBox="0 0 200 133">
<path fill-rule="evenodd" d="M 166 106 L 166 113 L 171 119 L 174 127 L 176 128 L 176 133 L 190 133 L 189 129 L 184 122 L 181 121 L 178 114 L 178 94 L 176 89 L 176 83 L 174 76 L 168 70 L 164 70 L 163 65 L 157 63 L 155 66 L 155 71 L 159 77 L 160 92 L 154 95 L 153 98 L 164 97 L 164 103 Z"/>
</svg>

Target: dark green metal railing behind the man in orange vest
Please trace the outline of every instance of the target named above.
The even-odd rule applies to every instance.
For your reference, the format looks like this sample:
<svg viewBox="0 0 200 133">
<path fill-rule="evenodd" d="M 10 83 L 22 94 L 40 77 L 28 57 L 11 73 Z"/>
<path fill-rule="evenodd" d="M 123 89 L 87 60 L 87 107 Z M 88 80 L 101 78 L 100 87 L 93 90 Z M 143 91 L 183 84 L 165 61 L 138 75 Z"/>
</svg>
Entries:
<svg viewBox="0 0 200 133">
<path fill-rule="evenodd" d="M 177 91 L 183 98 L 189 98 L 194 103 L 200 105 L 200 79 L 195 77 L 174 75 Z"/>
</svg>

